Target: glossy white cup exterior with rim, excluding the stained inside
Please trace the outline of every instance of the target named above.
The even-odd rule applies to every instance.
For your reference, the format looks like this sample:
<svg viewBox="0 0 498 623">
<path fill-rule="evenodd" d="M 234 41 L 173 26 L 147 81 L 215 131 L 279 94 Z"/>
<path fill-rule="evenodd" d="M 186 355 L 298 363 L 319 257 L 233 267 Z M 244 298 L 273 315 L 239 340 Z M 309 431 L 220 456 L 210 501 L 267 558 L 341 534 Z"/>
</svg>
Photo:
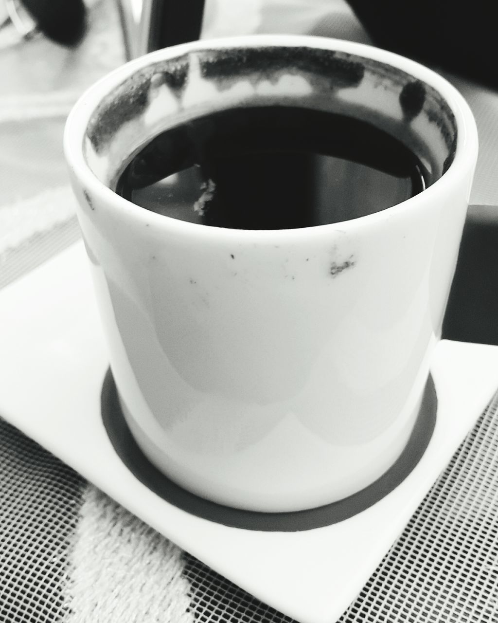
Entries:
<svg viewBox="0 0 498 623">
<path fill-rule="evenodd" d="M 92 110 L 126 76 L 185 50 L 311 45 L 372 57 L 435 88 L 454 161 L 377 214 L 280 231 L 207 227 L 139 209 L 83 157 Z M 477 158 L 463 98 L 383 50 L 240 37 L 154 52 L 90 89 L 65 153 L 121 406 L 144 454 L 201 497 L 258 511 L 342 499 L 409 439 L 441 333 Z"/>
</svg>

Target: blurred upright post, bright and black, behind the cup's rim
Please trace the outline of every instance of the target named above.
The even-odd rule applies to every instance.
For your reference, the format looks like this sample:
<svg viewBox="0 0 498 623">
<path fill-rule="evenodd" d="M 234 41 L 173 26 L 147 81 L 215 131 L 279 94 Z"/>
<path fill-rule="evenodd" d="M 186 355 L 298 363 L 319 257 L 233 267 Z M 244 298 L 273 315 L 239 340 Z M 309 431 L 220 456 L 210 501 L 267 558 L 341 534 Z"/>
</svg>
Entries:
<svg viewBox="0 0 498 623">
<path fill-rule="evenodd" d="M 117 0 L 126 59 L 199 39 L 204 0 Z"/>
</svg>

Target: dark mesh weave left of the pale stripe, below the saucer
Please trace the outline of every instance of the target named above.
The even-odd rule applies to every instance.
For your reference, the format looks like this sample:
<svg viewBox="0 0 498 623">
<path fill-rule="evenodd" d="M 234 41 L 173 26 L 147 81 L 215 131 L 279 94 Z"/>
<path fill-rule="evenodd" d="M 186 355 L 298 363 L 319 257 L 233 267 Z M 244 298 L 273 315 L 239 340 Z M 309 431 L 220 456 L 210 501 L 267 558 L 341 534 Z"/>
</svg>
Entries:
<svg viewBox="0 0 498 623">
<path fill-rule="evenodd" d="M 67 555 L 82 485 L 0 419 L 0 623 L 53 623 L 67 613 Z"/>
</svg>

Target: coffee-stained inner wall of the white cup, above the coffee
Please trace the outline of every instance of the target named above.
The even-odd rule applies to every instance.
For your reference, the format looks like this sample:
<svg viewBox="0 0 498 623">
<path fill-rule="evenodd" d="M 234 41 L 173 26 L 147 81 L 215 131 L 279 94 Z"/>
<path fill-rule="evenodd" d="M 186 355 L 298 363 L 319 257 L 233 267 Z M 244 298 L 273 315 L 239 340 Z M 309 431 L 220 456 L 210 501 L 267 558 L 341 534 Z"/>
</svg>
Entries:
<svg viewBox="0 0 498 623">
<path fill-rule="evenodd" d="M 367 57 L 278 45 L 194 50 L 136 70 L 93 111 L 85 158 L 114 189 L 126 164 L 162 131 L 227 108 L 268 105 L 372 123 L 415 153 L 429 185 L 454 159 L 456 120 L 428 83 Z"/>
</svg>

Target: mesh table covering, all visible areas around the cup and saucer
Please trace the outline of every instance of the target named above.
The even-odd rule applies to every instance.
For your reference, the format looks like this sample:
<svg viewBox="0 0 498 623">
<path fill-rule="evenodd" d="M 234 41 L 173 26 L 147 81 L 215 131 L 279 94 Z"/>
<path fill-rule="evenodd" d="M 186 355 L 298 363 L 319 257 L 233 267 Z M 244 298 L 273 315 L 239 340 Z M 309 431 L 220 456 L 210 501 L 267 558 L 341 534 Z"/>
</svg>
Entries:
<svg viewBox="0 0 498 623">
<path fill-rule="evenodd" d="M 0 31 L 0 287 L 79 237 L 63 123 L 82 90 L 125 60 L 116 2 L 88 7 L 88 33 L 75 49 L 44 37 L 5 45 Z M 339 0 L 309 2 L 306 11 L 298 0 L 262 7 L 260 0 L 207 2 L 204 36 L 316 32 L 320 24 L 317 34 L 366 40 Z M 498 343 L 498 96 L 449 78 L 474 110 L 481 152 L 471 196 L 479 207 L 467 222 L 445 334 Z M 492 401 L 342 621 L 496 620 L 497 408 Z M 289 621 L 157 534 L 0 414 L 0 623 L 196 620 Z"/>
</svg>

